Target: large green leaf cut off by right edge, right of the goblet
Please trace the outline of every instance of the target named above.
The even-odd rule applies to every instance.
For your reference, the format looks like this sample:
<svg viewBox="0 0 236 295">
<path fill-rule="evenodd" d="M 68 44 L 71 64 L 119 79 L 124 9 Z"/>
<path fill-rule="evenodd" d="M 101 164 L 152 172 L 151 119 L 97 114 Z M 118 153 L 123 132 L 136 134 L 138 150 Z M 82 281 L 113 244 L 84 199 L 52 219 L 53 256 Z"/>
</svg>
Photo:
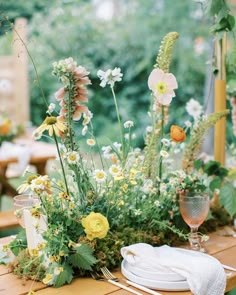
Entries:
<svg viewBox="0 0 236 295">
<path fill-rule="evenodd" d="M 225 183 L 220 189 L 220 204 L 230 216 L 236 213 L 236 188 L 230 182 Z"/>
</svg>

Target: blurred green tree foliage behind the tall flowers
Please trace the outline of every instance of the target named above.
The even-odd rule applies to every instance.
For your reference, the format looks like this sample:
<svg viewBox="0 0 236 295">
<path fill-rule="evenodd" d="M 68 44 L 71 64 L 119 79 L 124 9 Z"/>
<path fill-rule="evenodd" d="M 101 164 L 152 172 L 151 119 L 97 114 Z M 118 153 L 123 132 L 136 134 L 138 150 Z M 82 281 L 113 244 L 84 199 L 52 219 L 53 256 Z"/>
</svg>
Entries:
<svg viewBox="0 0 236 295">
<path fill-rule="evenodd" d="M 195 98 L 204 104 L 207 94 L 212 36 L 210 21 L 201 1 L 173 0 L 0 0 L 3 20 L 1 52 L 10 50 L 10 21 L 26 17 L 29 21 L 28 48 L 36 64 L 48 101 L 59 87 L 52 77 L 52 62 L 72 56 L 90 71 L 90 110 L 94 113 L 96 134 L 116 139 L 113 99 L 109 89 L 99 86 L 97 70 L 120 67 L 122 82 L 116 85 L 122 120 L 133 120 L 138 144 L 148 125 L 150 91 L 147 79 L 155 64 L 161 39 L 177 31 L 171 72 L 177 77 L 177 97 L 170 107 L 169 124 L 183 126 L 186 102 Z M 107 9 L 110 8 L 109 13 Z M 46 107 L 40 94 L 32 64 L 30 68 L 31 120 L 42 122 Z M 229 132 L 230 132 L 229 122 Z M 232 125 L 231 125 L 232 127 Z M 232 128 L 231 128 L 232 129 Z M 230 138 L 230 137 L 229 137 Z M 231 140 L 231 139 L 230 139 Z"/>
</svg>

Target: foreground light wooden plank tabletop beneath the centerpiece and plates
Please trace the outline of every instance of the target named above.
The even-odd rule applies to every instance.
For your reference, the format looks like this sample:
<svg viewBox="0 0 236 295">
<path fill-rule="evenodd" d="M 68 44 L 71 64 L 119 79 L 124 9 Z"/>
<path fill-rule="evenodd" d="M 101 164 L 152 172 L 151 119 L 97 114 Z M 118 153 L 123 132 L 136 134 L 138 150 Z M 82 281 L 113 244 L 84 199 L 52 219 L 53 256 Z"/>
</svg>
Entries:
<svg viewBox="0 0 236 295">
<path fill-rule="evenodd" d="M 0 243 L 5 243 L 9 239 L 0 239 Z M 205 243 L 205 248 L 214 257 L 219 259 L 223 264 L 236 268 L 236 238 L 222 237 L 218 233 L 210 235 L 209 241 Z M 230 271 L 227 271 L 230 273 Z M 122 277 L 120 272 L 115 273 Z M 8 272 L 7 267 L 0 265 L 0 295 L 22 295 L 27 294 L 28 291 L 37 290 L 37 295 L 130 295 L 131 293 L 122 290 L 107 282 L 95 281 L 91 278 L 74 279 L 70 285 L 61 288 L 52 288 L 43 285 L 40 282 L 27 281 L 22 285 L 22 281 L 15 275 Z M 227 289 L 230 291 L 236 288 L 236 272 L 231 272 L 227 278 Z M 143 295 L 148 295 L 143 291 L 139 291 Z M 163 295 L 190 295 L 190 291 L 185 292 L 164 292 L 158 291 Z"/>
</svg>

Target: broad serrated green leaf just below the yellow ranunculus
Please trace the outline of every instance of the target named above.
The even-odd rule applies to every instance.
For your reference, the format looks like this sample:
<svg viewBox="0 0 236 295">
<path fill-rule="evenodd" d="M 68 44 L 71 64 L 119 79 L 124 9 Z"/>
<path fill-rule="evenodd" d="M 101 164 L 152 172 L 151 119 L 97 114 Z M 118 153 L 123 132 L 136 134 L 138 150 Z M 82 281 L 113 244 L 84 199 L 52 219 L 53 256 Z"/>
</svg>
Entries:
<svg viewBox="0 0 236 295">
<path fill-rule="evenodd" d="M 92 270 L 91 266 L 94 265 L 97 260 L 93 256 L 92 249 L 88 245 L 82 244 L 79 248 L 77 248 L 77 253 L 70 256 L 69 262 L 74 267 Z"/>
</svg>

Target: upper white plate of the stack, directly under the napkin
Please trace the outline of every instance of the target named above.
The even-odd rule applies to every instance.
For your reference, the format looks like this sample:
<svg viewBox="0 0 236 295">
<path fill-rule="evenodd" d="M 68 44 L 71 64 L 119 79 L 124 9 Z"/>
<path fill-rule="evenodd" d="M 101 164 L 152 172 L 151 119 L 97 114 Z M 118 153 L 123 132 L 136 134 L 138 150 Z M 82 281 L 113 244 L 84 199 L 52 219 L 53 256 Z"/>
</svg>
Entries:
<svg viewBox="0 0 236 295">
<path fill-rule="evenodd" d="M 129 272 L 133 273 L 134 275 L 138 277 L 150 279 L 150 280 L 168 281 L 168 282 L 179 282 L 179 281 L 186 280 L 180 274 L 177 274 L 174 272 L 148 271 L 146 269 L 142 269 L 142 268 L 130 265 L 126 260 L 125 260 L 125 268 L 126 270 L 128 270 Z"/>
</svg>

